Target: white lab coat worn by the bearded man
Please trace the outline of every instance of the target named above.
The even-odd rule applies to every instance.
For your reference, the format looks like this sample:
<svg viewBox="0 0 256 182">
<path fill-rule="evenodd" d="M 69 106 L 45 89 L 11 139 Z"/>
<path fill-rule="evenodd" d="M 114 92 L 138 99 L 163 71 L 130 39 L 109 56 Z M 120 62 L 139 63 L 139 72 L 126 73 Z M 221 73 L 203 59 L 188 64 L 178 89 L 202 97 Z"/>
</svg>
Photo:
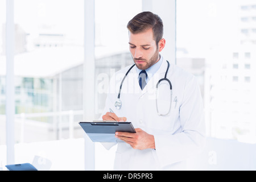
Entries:
<svg viewBox="0 0 256 182">
<path fill-rule="evenodd" d="M 134 128 L 154 135 L 155 150 L 135 150 L 125 142 L 118 142 L 114 170 L 185 169 L 185 159 L 198 154 L 205 142 L 203 102 L 196 77 L 170 64 L 167 78 L 172 84 L 171 112 L 167 116 L 159 116 L 156 111 L 156 83 L 166 73 L 166 60 L 163 60 L 143 90 L 139 87 L 135 67 L 131 69 L 122 85 L 122 108 L 118 110 L 114 103 L 117 101 L 119 85 L 129 68 L 116 72 L 110 80 L 103 114 L 112 108 L 118 117 L 126 117 L 127 121 L 132 122 Z M 170 88 L 167 84 L 159 87 L 158 98 L 164 112 L 164 108 L 170 104 Z M 102 144 L 109 149 L 116 143 Z"/>
</svg>

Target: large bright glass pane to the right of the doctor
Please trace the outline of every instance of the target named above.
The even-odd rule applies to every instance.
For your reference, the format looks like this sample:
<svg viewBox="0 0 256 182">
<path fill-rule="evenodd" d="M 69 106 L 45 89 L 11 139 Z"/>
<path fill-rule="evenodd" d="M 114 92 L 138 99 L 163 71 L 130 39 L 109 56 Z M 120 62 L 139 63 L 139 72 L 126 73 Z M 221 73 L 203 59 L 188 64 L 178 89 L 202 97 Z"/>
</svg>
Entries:
<svg viewBox="0 0 256 182">
<path fill-rule="evenodd" d="M 252 2 L 177 1 L 177 65 L 200 82 L 209 137 L 256 142 Z"/>
</svg>

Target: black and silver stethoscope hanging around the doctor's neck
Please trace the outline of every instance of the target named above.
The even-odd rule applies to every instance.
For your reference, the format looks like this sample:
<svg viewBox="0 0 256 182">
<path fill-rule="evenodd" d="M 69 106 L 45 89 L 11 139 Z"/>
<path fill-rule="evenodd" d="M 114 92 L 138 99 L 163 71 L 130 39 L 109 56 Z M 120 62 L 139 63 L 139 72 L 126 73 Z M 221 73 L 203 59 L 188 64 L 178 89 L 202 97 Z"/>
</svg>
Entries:
<svg viewBox="0 0 256 182">
<path fill-rule="evenodd" d="M 167 69 L 166 69 L 166 74 L 164 75 L 164 78 L 160 79 L 160 80 L 158 81 L 158 83 L 156 84 L 156 111 L 158 112 L 158 115 L 163 115 L 163 116 L 164 116 L 164 115 L 167 115 L 168 113 L 170 113 L 170 110 L 171 110 L 171 103 L 172 103 L 172 84 L 171 84 L 171 81 L 167 78 L 168 69 L 169 69 L 169 67 L 170 67 L 169 61 L 167 61 L 167 64 L 168 64 L 168 67 L 167 67 Z M 126 72 L 125 76 L 123 77 L 123 80 L 121 81 L 121 84 L 120 84 L 120 87 L 119 87 L 118 96 L 117 96 L 117 101 L 115 101 L 115 108 L 117 108 L 117 109 L 121 109 L 121 107 L 122 107 L 122 102 L 121 102 L 121 100 L 120 100 L 120 94 L 121 94 L 121 89 L 122 89 L 123 81 L 125 81 L 126 76 L 128 75 L 128 73 L 131 71 L 131 69 L 132 69 L 134 66 L 135 66 L 135 64 L 130 67 L 130 69 Z M 170 107 L 169 107 L 169 110 L 167 111 L 167 113 L 162 114 L 162 113 L 159 112 L 159 109 L 158 109 L 158 99 L 157 99 L 157 98 L 158 98 L 158 85 L 159 85 L 159 83 L 160 83 L 161 81 L 164 81 L 164 80 L 167 81 L 168 84 L 170 85 L 170 91 L 171 91 L 171 92 L 170 92 L 170 93 L 171 93 L 170 99 L 171 99 L 171 101 L 170 101 Z"/>
</svg>

